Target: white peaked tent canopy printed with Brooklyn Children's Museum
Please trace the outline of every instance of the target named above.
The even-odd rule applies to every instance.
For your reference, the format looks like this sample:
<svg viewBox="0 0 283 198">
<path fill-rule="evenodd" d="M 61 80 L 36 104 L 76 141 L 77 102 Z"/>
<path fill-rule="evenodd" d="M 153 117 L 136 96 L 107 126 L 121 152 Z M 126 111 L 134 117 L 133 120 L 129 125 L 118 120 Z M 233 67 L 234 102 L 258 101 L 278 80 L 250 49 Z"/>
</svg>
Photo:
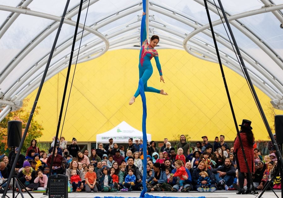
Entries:
<svg viewBox="0 0 283 198">
<path fill-rule="evenodd" d="M 114 143 L 127 143 L 130 138 L 142 139 L 142 137 L 142 131 L 135 129 L 130 124 L 123 121 L 113 129 L 96 135 L 96 142 L 108 143 L 108 140 L 113 138 Z M 147 140 L 151 141 L 151 134 L 147 134 Z"/>
</svg>

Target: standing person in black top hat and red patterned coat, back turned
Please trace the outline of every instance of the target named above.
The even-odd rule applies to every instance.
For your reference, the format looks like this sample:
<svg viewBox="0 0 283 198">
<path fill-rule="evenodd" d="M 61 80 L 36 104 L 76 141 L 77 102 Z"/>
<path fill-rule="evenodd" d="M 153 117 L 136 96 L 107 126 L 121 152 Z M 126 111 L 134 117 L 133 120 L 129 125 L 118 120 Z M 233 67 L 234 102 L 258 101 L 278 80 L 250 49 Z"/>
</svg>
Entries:
<svg viewBox="0 0 283 198">
<path fill-rule="evenodd" d="M 251 127 L 251 121 L 243 119 L 240 129 L 240 136 L 242 140 L 242 144 L 244 147 L 244 151 L 247 158 L 247 163 L 249 167 L 250 173 L 254 172 L 254 154 L 253 154 L 253 133 L 252 133 L 252 127 Z M 244 180 L 245 180 L 245 173 L 248 173 L 247 166 L 244 161 L 243 152 L 241 151 L 241 145 L 239 141 L 239 137 L 237 135 L 235 141 L 234 141 L 234 153 L 236 153 L 236 162 L 238 165 L 238 175 L 239 175 L 239 185 L 240 190 L 236 194 L 249 194 L 252 192 L 251 190 L 251 180 L 250 177 L 247 174 L 247 191 L 244 190 Z"/>
</svg>

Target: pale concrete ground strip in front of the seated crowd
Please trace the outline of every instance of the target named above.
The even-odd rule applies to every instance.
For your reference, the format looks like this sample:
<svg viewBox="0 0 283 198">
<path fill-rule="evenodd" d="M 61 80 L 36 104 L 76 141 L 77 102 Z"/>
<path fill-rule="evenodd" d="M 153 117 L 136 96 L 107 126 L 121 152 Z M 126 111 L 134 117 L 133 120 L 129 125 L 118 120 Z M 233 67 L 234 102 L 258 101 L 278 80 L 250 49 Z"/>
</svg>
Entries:
<svg viewBox="0 0 283 198">
<path fill-rule="evenodd" d="M 275 190 L 275 193 L 278 197 L 281 197 L 281 190 Z M 183 192 L 149 192 L 149 195 L 160 196 L 160 197 L 209 197 L 209 198 L 239 198 L 244 196 L 245 198 L 255 198 L 258 195 L 237 195 L 236 191 L 225 191 L 225 190 L 216 190 L 215 192 L 197 192 L 191 191 L 189 193 Z M 3 196 L 2 194 L 0 194 Z M 13 197 L 12 191 L 9 190 L 6 197 Z M 15 194 L 17 195 L 17 194 Z M 25 198 L 30 196 L 27 193 L 23 193 Z M 34 198 L 48 198 L 48 195 L 43 195 L 43 193 L 31 193 Z M 265 191 L 262 195 L 263 198 L 276 198 L 276 195 L 272 191 Z M 70 198 L 93 198 L 93 197 L 140 197 L 139 191 L 132 192 L 112 192 L 112 193 L 86 193 L 86 192 L 72 192 L 68 194 Z M 17 197 L 21 197 L 19 194 Z"/>
</svg>

